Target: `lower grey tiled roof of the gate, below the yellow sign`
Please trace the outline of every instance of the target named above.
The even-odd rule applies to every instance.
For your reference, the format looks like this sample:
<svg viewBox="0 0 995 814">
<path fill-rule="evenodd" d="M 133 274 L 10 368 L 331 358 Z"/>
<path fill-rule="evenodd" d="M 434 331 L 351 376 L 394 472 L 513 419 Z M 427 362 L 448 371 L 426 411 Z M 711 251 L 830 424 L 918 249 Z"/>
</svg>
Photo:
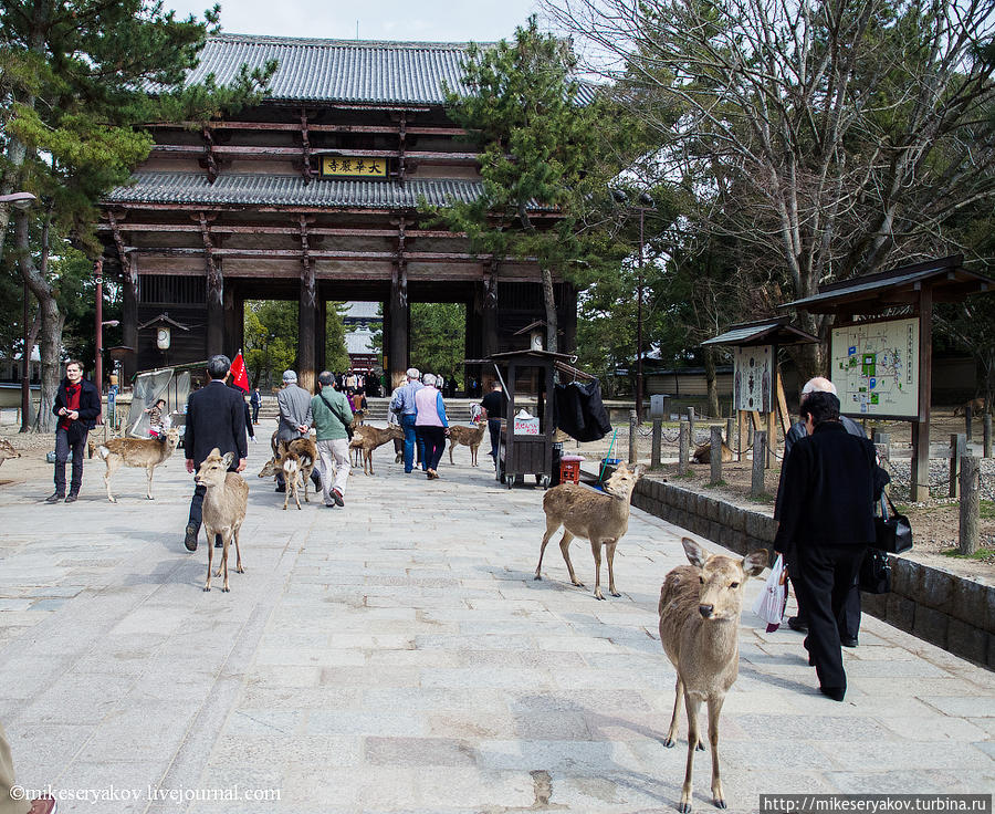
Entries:
<svg viewBox="0 0 995 814">
<path fill-rule="evenodd" d="M 136 173 L 117 187 L 111 204 L 231 204 L 247 206 L 415 208 L 421 198 L 431 206 L 472 202 L 483 192 L 474 180 L 410 179 L 404 186 L 385 180 L 324 180 L 304 184 L 301 176 L 220 175 L 209 184 L 202 173 Z"/>
</svg>

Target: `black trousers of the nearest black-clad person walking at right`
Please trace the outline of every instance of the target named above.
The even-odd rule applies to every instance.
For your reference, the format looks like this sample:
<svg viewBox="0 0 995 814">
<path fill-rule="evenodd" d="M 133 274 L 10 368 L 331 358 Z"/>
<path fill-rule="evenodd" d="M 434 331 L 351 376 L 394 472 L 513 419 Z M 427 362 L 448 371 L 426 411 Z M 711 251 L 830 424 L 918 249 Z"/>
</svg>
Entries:
<svg viewBox="0 0 995 814">
<path fill-rule="evenodd" d="M 837 619 L 857 580 L 863 545 L 797 546 L 795 588 L 808 614 L 805 647 L 816 668 L 819 685 L 846 689 Z"/>
</svg>

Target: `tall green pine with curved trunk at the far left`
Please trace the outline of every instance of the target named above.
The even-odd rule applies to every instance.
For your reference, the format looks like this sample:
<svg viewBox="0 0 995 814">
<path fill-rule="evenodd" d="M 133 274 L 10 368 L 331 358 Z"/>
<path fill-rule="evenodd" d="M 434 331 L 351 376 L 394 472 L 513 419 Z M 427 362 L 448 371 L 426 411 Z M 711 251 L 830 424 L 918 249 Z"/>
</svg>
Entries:
<svg viewBox="0 0 995 814">
<path fill-rule="evenodd" d="M 142 125 L 207 121 L 222 109 L 255 101 L 275 69 L 243 67 L 231 86 L 212 79 L 185 85 L 196 66 L 218 7 L 205 22 L 177 20 L 160 2 L 143 0 L 8 0 L 0 13 L 0 194 L 33 191 L 45 206 L 53 255 L 70 241 L 90 257 L 94 204 L 124 184 L 148 155 L 151 136 Z M 0 205 L 0 252 L 10 211 Z M 51 430 L 60 376 L 65 314 L 60 283 L 46 270 L 49 251 L 32 241 L 31 216 L 13 218 L 9 252 L 39 303 L 42 408 L 38 429 Z"/>
</svg>

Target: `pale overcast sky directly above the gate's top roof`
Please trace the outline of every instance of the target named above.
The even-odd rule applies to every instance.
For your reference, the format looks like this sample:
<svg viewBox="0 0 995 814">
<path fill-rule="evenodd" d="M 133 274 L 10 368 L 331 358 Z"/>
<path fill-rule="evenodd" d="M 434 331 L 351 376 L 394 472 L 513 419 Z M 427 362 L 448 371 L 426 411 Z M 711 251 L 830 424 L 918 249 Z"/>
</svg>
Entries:
<svg viewBox="0 0 995 814">
<path fill-rule="evenodd" d="M 203 15 L 207 0 L 166 0 L 180 15 Z M 536 0 L 222 0 L 221 25 L 233 34 L 336 40 L 492 42 L 510 39 L 537 11 Z"/>
</svg>

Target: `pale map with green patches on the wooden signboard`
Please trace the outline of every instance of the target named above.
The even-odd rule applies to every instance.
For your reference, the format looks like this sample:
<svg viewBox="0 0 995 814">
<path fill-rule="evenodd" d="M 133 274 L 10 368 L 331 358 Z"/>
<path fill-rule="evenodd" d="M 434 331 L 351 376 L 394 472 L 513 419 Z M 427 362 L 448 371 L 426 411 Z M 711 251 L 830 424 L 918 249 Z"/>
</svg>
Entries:
<svg viewBox="0 0 995 814">
<path fill-rule="evenodd" d="M 850 416 L 919 415 L 919 319 L 832 328 L 830 377 Z"/>
</svg>

